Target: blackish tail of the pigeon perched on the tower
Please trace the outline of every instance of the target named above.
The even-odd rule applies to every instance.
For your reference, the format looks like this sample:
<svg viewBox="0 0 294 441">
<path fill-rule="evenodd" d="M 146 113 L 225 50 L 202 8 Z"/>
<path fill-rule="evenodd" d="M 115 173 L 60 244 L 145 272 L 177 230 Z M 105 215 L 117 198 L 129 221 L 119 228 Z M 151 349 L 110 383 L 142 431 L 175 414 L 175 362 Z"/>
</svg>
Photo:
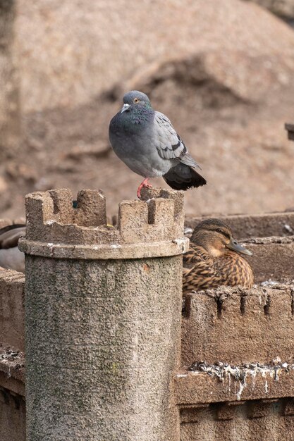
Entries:
<svg viewBox="0 0 294 441">
<path fill-rule="evenodd" d="M 188 190 L 188 188 L 201 187 L 207 183 L 202 175 L 183 163 L 171 168 L 163 178 L 173 190 Z"/>
</svg>

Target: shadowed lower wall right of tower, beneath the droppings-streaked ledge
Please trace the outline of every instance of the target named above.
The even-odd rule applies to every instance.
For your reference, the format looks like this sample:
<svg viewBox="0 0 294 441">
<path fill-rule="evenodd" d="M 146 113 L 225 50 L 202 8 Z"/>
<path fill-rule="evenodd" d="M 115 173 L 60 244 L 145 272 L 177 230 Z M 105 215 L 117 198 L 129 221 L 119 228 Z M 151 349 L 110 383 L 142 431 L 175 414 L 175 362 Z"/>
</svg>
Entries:
<svg viewBox="0 0 294 441">
<path fill-rule="evenodd" d="M 227 406 L 183 409 L 181 441 L 276 441 L 293 440 L 293 412 L 291 399 L 243 402 Z M 229 408 L 229 409 L 228 409 Z M 232 408 L 232 409 L 230 409 Z"/>
</svg>

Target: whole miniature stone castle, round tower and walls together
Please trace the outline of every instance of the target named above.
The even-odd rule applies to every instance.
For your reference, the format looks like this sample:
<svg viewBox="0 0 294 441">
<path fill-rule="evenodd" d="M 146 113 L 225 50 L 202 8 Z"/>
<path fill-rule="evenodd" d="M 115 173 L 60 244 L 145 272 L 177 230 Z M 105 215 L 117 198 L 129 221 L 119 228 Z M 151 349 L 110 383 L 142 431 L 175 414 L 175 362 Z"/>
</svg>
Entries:
<svg viewBox="0 0 294 441">
<path fill-rule="evenodd" d="M 102 192 L 28 195 L 25 278 L 0 271 L 1 440 L 290 441 L 294 213 L 228 216 L 264 283 L 182 311 L 183 193 L 144 198 L 113 227 Z"/>
</svg>

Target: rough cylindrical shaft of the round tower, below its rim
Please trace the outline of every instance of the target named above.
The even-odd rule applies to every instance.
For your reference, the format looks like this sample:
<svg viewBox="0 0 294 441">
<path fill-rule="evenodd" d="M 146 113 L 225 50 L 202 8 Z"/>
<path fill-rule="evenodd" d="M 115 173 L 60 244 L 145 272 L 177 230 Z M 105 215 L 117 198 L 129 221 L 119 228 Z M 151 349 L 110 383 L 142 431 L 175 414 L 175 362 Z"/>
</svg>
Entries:
<svg viewBox="0 0 294 441">
<path fill-rule="evenodd" d="M 27 256 L 30 440 L 178 439 L 180 264 Z"/>
</svg>

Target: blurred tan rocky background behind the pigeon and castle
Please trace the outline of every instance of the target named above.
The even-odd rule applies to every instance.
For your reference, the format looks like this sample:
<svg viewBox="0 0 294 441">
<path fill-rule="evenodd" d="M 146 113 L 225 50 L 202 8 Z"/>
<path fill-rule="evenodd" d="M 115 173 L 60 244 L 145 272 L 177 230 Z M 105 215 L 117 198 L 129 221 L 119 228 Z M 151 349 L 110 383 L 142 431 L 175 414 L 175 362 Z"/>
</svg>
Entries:
<svg viewBox="0 0 294 441">
<path fill-rule="evenodd" d="M 202 166 L 189 214 L 293 207 L 294 29 L 281 16 L 293 0 L 0 0 L 0 217 L 52 187 L 101 188 L 110 213 L 135 199 L 141 178 L 108 140 L 129 89 Z"/>
</svg>

